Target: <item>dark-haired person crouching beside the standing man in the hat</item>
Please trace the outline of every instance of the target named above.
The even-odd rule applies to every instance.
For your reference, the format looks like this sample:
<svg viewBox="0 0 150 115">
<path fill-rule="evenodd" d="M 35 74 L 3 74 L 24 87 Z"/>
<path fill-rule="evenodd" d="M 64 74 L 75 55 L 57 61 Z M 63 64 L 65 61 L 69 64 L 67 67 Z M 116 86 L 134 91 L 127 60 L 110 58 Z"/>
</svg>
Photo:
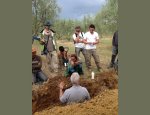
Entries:
<svg viewBox="0 0 150 115">
<path fill-rule="evenodd" d="M 68 64 L 68 49 L 64 48 L 63 46 L 59 47 L 58 52 L 58 59 L 59 59 L 59 66 L 66 66 Z"/>
</svg>

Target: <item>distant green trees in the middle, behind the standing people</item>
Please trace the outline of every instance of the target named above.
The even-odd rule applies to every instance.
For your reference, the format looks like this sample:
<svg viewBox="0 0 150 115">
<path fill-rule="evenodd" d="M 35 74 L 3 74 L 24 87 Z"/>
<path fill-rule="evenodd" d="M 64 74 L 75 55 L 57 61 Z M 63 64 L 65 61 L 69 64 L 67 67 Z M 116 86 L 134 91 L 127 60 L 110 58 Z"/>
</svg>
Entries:
<svg viewBox="0 0 150 115">
<path fill-rule="evenodd" d="M 94 19 L 91 16 L 84 16 L 83 20 L 63 20 L 58 19 L 54 23 L 54 29 L 56 30 L 57 39 L 67 39 L 70 41 L 74 34 L 74 28 L 81 26 L 83 32 L 88 31 L 89 24 L 93 23 Z"/>
</svg>

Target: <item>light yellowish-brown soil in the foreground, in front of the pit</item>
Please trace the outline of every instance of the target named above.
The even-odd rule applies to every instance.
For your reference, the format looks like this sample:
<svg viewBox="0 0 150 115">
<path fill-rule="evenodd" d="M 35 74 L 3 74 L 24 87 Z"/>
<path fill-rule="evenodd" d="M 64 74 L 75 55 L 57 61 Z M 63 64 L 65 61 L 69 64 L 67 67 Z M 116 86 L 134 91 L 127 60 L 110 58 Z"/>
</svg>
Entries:
<svg viewBox="0 0 150 115">
<path fill-rule="evenodd" d="M 35 115 L 118 115 L 118 89 L 103 91 L 82 104 L 55 106 Z"/>
</svg>

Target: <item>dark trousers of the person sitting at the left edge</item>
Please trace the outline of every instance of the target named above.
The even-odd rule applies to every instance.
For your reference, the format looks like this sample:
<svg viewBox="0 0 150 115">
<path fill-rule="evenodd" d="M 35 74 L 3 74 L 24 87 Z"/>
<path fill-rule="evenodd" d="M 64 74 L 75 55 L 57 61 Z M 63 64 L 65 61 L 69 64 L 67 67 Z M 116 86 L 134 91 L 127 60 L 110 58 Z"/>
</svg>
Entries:
<svg viewBox="0 0 150 115">
<path fill-rule="evenodd" d="M 47 77 L 42 71 L 32 72 L 32 83 L 47 81 Z"/>
</svg>

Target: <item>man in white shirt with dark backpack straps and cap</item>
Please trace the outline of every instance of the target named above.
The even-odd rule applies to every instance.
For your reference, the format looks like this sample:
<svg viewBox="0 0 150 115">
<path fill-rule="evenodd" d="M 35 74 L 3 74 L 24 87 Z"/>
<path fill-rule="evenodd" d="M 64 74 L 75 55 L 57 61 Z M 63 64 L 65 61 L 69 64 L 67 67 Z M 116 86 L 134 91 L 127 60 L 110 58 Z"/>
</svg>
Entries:
<svg viewBox="0 0 150 115">
<path fill-rule="evenodd" d="M 73 41 L 75 45 L 75 53 L 78 59 L 80 59 L 80 52 L 82 52 L 84 58 L 85 58 L 85 44 L 83 43 L 84 40 L 84 33 L 81 32 L 81 27 L 77 26 L 75 27 L 75 33 L 73 34 Z"/>
</svg>

